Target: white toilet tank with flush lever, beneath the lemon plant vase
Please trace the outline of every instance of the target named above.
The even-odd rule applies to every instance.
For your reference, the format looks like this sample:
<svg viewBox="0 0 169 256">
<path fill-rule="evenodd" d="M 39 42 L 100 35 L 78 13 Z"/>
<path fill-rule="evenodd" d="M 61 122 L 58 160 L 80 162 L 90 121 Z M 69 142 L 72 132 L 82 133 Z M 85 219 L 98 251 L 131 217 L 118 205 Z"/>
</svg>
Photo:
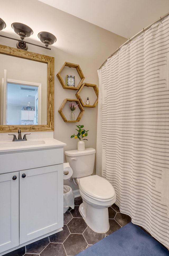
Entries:
<svg viewBox="0 0 169 256">
<path fill-rule="evenodd" d="M 66 162 L 69 162 L 73 170 L 73 178 L 80 178 L 91 175 L 94 169 L 95 153 L 94 148 L 86 148 L 83 151 L 69 150 L 64 152 Z"/>
</svg>

